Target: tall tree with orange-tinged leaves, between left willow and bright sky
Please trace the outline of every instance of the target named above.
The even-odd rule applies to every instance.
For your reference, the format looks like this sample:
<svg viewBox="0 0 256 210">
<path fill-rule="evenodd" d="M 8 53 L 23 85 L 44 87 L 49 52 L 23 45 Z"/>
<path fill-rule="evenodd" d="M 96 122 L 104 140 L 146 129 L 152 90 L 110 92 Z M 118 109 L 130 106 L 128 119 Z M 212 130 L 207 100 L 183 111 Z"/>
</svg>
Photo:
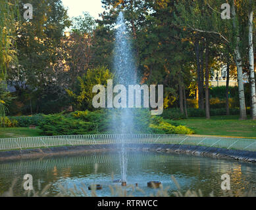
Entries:
<svg viewBox="0 0 256 210">
<path fill-rule="evenodd" d="M 24 3 L 27 1 L 19 1 L 22 11 Z M 53 67 L 59 60 L 57 48 L 61 44 L 63 30 L 69 25 L 61 0 L 34 0 L 33 19 L 22 18 L 20 27 L 15 31 L 18 64 L 9 68 L 8 83 L 17 90 L 30 90 L 35 100 L 35 112 L 39 112 L 48 100 L 49 93 L 59 92 Z"/>
</svg>

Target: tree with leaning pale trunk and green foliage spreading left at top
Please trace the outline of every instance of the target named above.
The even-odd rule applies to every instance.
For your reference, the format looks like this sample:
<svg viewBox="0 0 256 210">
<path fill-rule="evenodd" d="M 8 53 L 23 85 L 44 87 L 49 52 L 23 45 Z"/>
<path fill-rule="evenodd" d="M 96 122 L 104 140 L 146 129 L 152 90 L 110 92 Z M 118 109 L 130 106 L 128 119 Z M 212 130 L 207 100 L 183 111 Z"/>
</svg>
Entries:
<svg viewBox="0 0 256 210">
<path fill-rule="evenodd" d="M 204 1 L 188 1 L 186 3 L 180 2 L 180 4 L 177 5 L 177 9 L 180 11 L 180 14 L 183 18 L 183 24 L 186 26 L 186 28 L 192 30 L 195 34 L 199 33 L 204 37 L 208 37 L 208 39 L 209 37 L 215 37 L 215 41 L 213 41 L 213 43 L 219 46 L 224 45 L 227 49 L 230 48 L 232 51 L 234 51 L 234 59 L 236 61 L 238 72 L 238 88 L 240 94 L 240 119 L 246 119 L 247 116 L 245 108 L 242 69 L 243 57 L 241 54 L 242 42 L 240 40 L 240 37 L 242 37 L 242 17 L 238 17 L 238 15 L 236 15 L 236 7 L 238 7 L 241 11 L 242 3 L 235 3 L 235 1 L 232 1 L 232 22 L 229 20 L 222 20 L 220 16 L 217 17 L 217 15 L 220 15 L 220 12 L 217 11 L 221 4 L 222 1 L 208 1 L 207 3 Z M 210 13 L 211 15 L 205 16 L 207 13 Z M 197 66 L 199 66 L 200 56 L 198 56 L 198 46 L 196 49 Z M 197 69 L 199 74 L 199 68 L 197 67 Z M 197 77 L 199 77 L 199 75 L 197 75 Z"/>
</svg>

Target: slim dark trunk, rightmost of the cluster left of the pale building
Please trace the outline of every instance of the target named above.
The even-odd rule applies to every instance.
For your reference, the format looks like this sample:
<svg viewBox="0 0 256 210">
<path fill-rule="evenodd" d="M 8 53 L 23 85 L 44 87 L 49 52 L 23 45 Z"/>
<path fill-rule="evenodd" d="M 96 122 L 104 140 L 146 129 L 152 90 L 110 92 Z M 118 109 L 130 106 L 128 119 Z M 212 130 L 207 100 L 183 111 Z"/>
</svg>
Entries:
<svg viewBox="0 0 256 210">
<path fill-rule="evenodd" d="M 206 119 L 210 119 L 210 99 L 209 99 L 209 43 L 206 41 L 205 51 L 205 114 Z"/>
</svg>

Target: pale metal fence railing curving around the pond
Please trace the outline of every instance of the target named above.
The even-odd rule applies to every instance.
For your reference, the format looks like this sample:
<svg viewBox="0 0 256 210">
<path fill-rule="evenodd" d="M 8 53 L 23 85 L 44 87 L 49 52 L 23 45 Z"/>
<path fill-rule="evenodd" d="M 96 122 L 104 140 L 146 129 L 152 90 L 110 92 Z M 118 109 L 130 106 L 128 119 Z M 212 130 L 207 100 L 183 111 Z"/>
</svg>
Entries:
<svg viewBox="0 0 256 210">
<path fill-rule="evenodd" d="M 256 152 L 256 139 L 164 134 L 102 134 L 0 138 L 0 150 L 22 150 L 24 148 L 43 148 L 68 145 L 119 144 L 122 142 L 125 144 L 183 144 Z"/>
</svg>

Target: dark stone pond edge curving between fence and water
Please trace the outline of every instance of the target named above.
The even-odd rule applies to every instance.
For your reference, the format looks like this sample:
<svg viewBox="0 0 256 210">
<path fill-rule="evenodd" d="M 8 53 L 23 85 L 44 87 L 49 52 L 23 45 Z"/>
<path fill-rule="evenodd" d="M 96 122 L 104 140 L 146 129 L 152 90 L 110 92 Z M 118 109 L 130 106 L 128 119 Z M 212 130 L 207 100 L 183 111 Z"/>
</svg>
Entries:
<svg viewBox="0 0 256 210">
<path fill-rule="evenodd" d="M 95 144 L 80 146 L 59 146 L 51 148 L 33 148 L 26 150 L 10 150 L 0 152 L 0 161 L 15 159 L 43 158 L 49 156 L 63 156 L 82 154 L 85 152 L 118 151 L 120 144 Z M 206 146 L 191 146 L 180 144 L 126 144 L 127 150 L 166 152 L 175 154 L 190 154 L 217 159 L 233 159 L 249 163 L 256 163 L 256 152 L 242 150 L 228 150 Z"/>
</svg>

